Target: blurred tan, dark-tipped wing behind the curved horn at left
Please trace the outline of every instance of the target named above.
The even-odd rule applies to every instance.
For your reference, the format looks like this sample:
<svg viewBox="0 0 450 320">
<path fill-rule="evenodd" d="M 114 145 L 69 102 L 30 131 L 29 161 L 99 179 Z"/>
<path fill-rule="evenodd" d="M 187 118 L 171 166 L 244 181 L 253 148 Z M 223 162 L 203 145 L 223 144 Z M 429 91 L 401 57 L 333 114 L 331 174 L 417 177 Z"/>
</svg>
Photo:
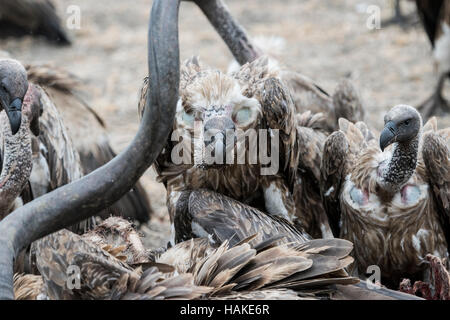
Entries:
<svg viewBox="0 0 450 320">
<path fill-rule="evenodd" d="M 29 81 L 41 86 L 57 108 L 79 153 L 83 174 L 94 171 L 116 156 L 103 119 L 81 97 L 83 84 L 79 79 L 49 65 L 27 65 L 26 70 Z M 120 215 L 146 222 L 151 213 L 148 196 L 137 183 L 127 195 L 100 215 L 104 218 Z"/>
</svg>

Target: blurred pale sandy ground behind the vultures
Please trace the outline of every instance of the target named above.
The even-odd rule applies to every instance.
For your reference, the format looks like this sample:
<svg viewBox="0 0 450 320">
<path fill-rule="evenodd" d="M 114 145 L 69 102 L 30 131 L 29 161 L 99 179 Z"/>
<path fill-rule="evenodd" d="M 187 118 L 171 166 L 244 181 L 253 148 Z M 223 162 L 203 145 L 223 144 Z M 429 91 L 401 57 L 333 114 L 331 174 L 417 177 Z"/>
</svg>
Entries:
<svg viewBox="0 0 450 320">
<path fill-rule="evenodd" d="M 70 5 L 81 9 L 79 29 L 69 30 L 73 45 L 58 48 L 40 39 L 0 42 L 23 62 L 53 63 L 66 68 L 89 84 L 89 101 L 105 118 L 112 145 L 122 150 L 138 129 L 137 101 L 147 73 L 147 25 L 149 0 L 60 0 L 64 21 Z M 337 81 L 349 77 L 359 88 L 366 121 L 376 129 L 384 112 L 393 105 L 418 105 L 431 94 L 435 73 L 431 48 L 420 24 L 371 30 L 369 6 L 391 17 L 390 0 L 225 0 L 232 14 L 253 37 L 281 37 L 280 60 L 293 70 L 314 79 L 328 92 Z M 405 13 L 414 5 L 403 1 Z M 369 8 L 370 9 L 370 8 Z M 416 19 L 418 21 L 418 18 Z M 207 64 L 226 70 L 231 55 L 200 10 L 183 2 L 180 8 L 181 58 L 200 56 Z M 445 88 L 447 93 L 449 85 Z M 450 124 L 450 116 L 439 120 Z M 164 186 L 155 182 L 152 169 L 142 178 L 157 214 L 142 226 L 149 247 L 164 245 L 168 219 Z"/>
</svg>

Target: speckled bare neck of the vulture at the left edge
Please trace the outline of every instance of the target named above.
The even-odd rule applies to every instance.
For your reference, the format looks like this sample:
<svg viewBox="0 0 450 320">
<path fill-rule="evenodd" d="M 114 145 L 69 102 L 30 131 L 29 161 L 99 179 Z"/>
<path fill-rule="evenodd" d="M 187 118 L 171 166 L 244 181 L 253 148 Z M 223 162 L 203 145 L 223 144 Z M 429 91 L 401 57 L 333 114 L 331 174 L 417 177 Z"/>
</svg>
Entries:
<svg viewBox="0 0 450 320">
<path fill-rule="evenodd" d="M 32 168 L 31 135 L 28 117 L 22 114 L 19 131 L 12 135 L 5 112 L 0 114 L 3 167 L 0 174 L 0 220 L 12 209 L 22 192 Z"/>
</svg>

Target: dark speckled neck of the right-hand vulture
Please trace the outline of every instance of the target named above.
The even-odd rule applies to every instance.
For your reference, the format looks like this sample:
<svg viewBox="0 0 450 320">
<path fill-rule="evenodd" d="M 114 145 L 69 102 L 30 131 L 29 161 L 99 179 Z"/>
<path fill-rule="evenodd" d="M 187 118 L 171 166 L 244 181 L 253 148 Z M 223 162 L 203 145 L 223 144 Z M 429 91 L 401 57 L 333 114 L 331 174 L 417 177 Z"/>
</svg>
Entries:
<svg viewBox="0 0 450 320">
<path fill-rule="evenodd" d="M 381 172 L 381 187 L 389 192 L 398 192 L 411 178 L 417 166 L 420 132 L 415 138 L 393 145 L 392 156 Z"/>
</svg>

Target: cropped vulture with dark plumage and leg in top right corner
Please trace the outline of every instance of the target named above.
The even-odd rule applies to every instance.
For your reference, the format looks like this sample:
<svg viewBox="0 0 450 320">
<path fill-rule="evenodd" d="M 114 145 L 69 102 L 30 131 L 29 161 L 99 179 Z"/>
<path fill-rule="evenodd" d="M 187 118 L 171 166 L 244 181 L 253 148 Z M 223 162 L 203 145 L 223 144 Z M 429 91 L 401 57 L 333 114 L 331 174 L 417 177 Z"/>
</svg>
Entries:
<svg viewBox="0 0 450 320">
<path fill-rule="evenodd" d="M 448 101 L 442 96 L 445 79 L 450 77 L 450 0 L 416 0 L 417 11 L 433 48 L 437 71 L 434 93 L 419 107 L 424 119 L 449 112 Z"/>
</svg>

